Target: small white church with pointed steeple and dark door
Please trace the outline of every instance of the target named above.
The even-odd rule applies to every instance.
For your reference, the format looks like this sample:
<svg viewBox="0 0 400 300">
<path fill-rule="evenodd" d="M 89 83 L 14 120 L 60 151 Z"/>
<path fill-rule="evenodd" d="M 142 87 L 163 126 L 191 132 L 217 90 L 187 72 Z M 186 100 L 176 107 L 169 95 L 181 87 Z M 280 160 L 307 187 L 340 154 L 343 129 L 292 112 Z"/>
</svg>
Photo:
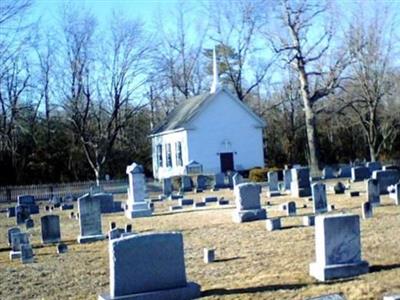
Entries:
<svg viewBox="0 0 400 300">
<path fill-rule="evenodd" d="M 210 92 L 184 100 L 150 135 L 154 178 L 185 175 L 193 162 L 203 174 L 264 166 L 264 121 L 219 87 L 215 51 L 213 69 Z"/>
</svg>

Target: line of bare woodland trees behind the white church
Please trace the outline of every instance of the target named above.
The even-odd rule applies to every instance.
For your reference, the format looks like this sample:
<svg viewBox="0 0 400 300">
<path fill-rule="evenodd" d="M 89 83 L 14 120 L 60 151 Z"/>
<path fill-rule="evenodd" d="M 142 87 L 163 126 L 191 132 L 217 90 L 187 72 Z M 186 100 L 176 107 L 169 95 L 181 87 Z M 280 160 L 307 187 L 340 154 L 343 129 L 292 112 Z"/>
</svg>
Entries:
<svg viewBox="0 0 400 300">
<path fill-rule="evenodd" d="M 332 1 L 184 2 L 143 22 L 65 5 L 0 4 L 0 183 L 151 175 L 157 126 L 220 80 L 266 120 L 265 163 L 400 158 L 396 7 Z"/>
</svg>

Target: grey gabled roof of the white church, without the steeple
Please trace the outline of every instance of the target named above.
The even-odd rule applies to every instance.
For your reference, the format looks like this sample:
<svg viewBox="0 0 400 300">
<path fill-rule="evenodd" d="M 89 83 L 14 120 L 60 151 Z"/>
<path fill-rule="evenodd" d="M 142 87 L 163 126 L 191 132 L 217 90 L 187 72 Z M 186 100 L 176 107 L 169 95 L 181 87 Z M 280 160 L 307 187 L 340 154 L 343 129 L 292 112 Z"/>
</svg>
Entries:
<svg viewBox="0 0 400 300">
<path fill-rule="evenodd" d="M 212 100 L 220 92 L 227 92 L 233 99 L 235 99 L 247 112 L 249 112 L 260 124 L 265 126 L 263 120 L 261 120 L 245 103 L 237 99 L 225 88 L 219 88 L 215 93 L 204 93 L 187 100 L 182 101 L 172 112 L 166 117 L 165 121 L 156 127 L 150 136 L 158 135 L 165 131 L 172 131 L 180 128 L 184 128 L 202 107 Z"/>
</svg>

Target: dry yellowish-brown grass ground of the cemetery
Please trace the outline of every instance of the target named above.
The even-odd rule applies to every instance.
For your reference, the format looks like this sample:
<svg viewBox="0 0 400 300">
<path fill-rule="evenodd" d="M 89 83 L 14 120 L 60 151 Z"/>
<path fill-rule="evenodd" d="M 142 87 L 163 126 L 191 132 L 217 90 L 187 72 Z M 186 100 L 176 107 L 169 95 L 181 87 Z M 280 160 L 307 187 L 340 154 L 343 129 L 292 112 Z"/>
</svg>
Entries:
<svg viewBox="0 0 400 300">
<path fill-rule="evenodd" d="M 326 181 L 333 185 L 337 180 Z M 331 213 L 352 212 L 361 216 L 366 201 L 365 183 L 353 183 L 359 197 L 328 192 Z M 123 213 L 102 215 L 103 233 L 109 222 L 117 227 L 132 224 L 138 233 L 180 231 L 183 233 L 188 280 L 201 285 L 205 299 L 304 299 L 321 294 L 342 292 L 347 299 L 382 299 L 386 292 L 400 292 L 400 207 L 389 196 L 381 196 L 381 206 L 373 218 L 361 220 L 362 258 L 369 262 L 370 272 L 359 277 L 318 282 L 309 275 L 309 264 L 315 260 L 314 227 L 304 227 L 302 216 L 312 213 L 312 202 L 290 195 L 267 199 L 263 188 L 262 203 L 268 217 L 284 216 L 279 204 L 295 200 L 297 215 L 282 218 L 282 229 L 269 232 L 265 220 L 236 224 L 232 221 L 233 192 L 205 191 L 186 193 L 185 198 L 200 201 L 205 195 L 223 196 L 230 206 L 208 205 L 206 208 L 184 208 L 171 213 L 168 207 L 177 200 L 155 203 L 152 217 L 128 219 Z M 151 195 L 155 197 L 156 195 Z M 126 200 L 126 195 L 115 197 Z M 266 205 L 270 201 L 271 205 Z M 75 211 L 77 211 L 77 203 Z M 61 217 L 61 238 L 69 251 L 58 255 L 55 245 L 41 245 L 40 216 L 33 215 L 35 227 L 28 229 L 35 262 L 21 264 L 9 260 L 7 229 L 15 218 L 0 213 L 0 299 L 96 299 L 109 290 L 108 241 L 78 244 L 79 223 L 70 219 L 71 211 L 52 212 Z M 303 206 L 307 205 L 306 208 Z M 9 205 L 2 204 L 0 208 Z M 25 231 L 25 226 L 23 226 Z M 215 248 L 216 261 L 203 262 L 203 248 Z"/>
</svg>

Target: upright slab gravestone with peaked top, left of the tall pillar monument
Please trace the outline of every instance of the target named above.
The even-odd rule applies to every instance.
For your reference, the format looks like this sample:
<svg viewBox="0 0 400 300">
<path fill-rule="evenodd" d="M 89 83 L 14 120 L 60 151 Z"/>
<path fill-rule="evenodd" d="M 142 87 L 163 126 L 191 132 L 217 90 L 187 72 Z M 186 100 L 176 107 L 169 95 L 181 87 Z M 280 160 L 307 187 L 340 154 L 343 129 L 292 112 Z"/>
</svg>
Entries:
<svg viewBox="0 0 400 300">
<path fill-rule="evenodd" d="M 101 209 L 99 199 L 86 194 L 78 199 L 79 236 L 78 243 L 89 243 L 104 239 L 101 231 Z"/>
</svg>

